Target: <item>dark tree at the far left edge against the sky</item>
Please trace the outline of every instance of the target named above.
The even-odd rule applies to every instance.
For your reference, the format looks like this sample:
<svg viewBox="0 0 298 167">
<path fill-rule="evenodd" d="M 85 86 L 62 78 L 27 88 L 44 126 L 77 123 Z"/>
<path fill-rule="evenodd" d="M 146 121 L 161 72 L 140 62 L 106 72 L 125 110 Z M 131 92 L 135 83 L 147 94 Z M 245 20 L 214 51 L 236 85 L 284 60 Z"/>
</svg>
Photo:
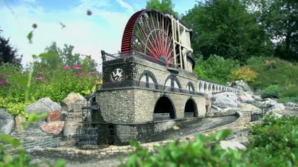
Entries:
<svg viewBox="0 0 298 167">
<path fill-rule="evenodd" d="M 9 43 L 9 38 L 4 39 L 0 35 L 0 63 L 11 63 L 16 66 L 21 66 L 23 55 L 18 55 L 18 49 L 13 48 Z"/>
</svg>

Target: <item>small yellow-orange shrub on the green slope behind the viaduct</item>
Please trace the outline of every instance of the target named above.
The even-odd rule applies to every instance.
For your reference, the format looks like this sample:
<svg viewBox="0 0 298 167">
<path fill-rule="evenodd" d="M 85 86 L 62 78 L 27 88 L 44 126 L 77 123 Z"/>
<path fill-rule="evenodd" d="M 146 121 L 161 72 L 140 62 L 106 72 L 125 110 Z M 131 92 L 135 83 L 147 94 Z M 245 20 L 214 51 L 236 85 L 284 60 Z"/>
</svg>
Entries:
<svg viewBox="0 0 298 167">
<path fill-rule="evenodd" d="M 252 71 L 248 66 L 239 67 L 232 71 L 232 81 L 243 80 L 246 82 L 252 82 L 257 78 L 257 73 Z"/>
</svg>

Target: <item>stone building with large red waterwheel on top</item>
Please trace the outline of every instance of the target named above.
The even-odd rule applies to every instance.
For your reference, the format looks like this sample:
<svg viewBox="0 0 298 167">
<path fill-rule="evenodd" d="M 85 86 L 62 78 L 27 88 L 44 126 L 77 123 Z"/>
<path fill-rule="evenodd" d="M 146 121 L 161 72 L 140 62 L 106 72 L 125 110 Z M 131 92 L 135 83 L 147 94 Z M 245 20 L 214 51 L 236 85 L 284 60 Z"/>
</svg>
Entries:
<svg viewBox="0 0 298 167">
<path fill-rule="evenodd" d="M 206 116 L 211 105 L 206 107 L 192 72 L 191 33 L 171 13 L 145 9 L 127 22 L 121 53 L 101 52 L 103 84 L 91 107 L 99 144 L 150 141 L 174 125 Z"/>
</svg>

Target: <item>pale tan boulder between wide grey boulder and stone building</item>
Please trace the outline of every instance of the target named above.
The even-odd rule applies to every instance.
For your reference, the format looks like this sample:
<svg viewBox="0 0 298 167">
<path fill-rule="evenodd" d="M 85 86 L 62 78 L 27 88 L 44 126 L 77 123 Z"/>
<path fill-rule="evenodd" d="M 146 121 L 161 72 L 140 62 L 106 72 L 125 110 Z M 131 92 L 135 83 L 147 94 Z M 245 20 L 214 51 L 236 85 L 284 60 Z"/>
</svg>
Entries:
<svg viewBox="0 0 298 167">
<path fill-rule="evenodd" d="M 76 93 L 70 93 L 65 99 L 62 100 L 62 111 L 74 112 L 75 102 L 86 101 L 86 99 Z"/>
</svg>

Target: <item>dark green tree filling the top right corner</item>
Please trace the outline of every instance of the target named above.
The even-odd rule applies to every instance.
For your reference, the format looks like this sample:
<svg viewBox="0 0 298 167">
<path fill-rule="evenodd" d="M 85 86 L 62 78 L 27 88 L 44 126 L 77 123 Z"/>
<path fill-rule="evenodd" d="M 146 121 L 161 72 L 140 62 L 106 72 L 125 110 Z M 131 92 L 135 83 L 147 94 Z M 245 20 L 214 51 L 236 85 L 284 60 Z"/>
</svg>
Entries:
<svg viewBox="0 0 298 167">
<path fill-rule="evenodd" d="M 298 60 L 298 1 L 244 0 L 244 3 L 275 42 L 275 55 Z"/>
</svg>

